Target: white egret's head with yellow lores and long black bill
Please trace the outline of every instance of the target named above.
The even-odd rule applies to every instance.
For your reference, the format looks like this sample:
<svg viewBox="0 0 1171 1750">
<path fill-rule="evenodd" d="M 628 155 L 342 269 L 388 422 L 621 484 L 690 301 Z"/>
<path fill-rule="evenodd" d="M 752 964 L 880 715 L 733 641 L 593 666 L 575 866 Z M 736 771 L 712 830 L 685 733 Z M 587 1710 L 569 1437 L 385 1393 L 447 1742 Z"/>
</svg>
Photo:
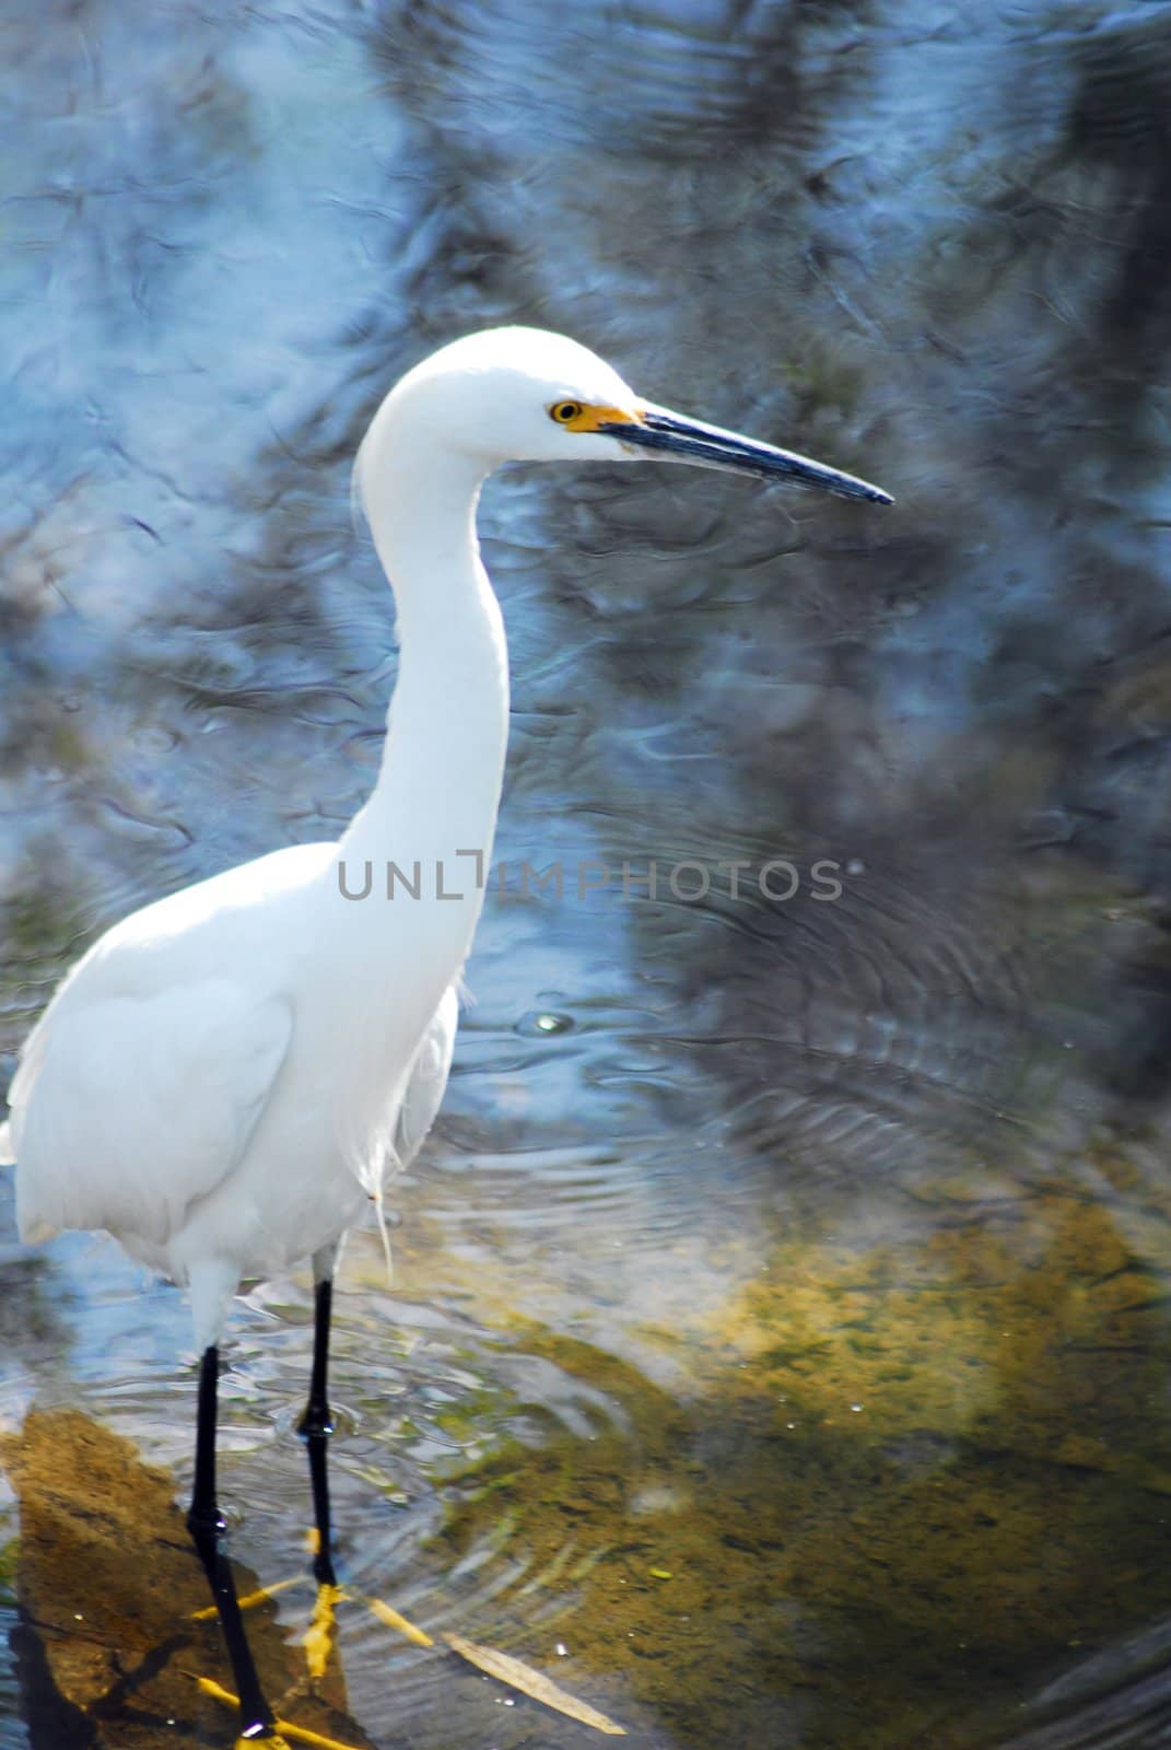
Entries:
<svg viewBox="0 0 1171 1750">
<path fill-rule="evenodd" d="M 485 472 L 499 462 L 691 462 L 891 502 L 852 474 L 658 408 L 588 346 L 543 329 L 452 341 L 403 378 L 383 416 Z"/>
</svg>

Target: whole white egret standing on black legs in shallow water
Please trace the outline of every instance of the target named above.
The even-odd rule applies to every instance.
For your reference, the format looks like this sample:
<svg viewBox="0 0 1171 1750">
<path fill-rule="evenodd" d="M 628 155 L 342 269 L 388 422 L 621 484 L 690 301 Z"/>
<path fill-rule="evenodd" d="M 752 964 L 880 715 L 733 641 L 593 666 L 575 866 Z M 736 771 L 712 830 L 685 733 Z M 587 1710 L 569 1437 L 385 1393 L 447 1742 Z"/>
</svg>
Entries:
<svg viewBox="0 0 1171 1750">
<path fill-rule="evenodd" d="M 399 677 L 373 794 L 336 844 L 296 845 L 135 912 L 63 980 L 21 1054 L 5 1153 L 21 1236 L 105 1228 L 191 1292 L 201 1354 L 189 1528 L 219 1606 L 242 1741 L 275 1740 L 215 1494 L 219 1342 L 240 1283 L 313 1260 L 308 1440 L 333 1584 L 326 1440 L 338 1248 L 443 1097 L 508 740 L 508 653 L 476 500 L 508 460 L 679 460 L 889 504 L 807 457 L 641 401 L 585 346 L 506 327 L 387 396 L 357 486 L 392 581 Z M 341 863 L 422 872 L 347 898 Z M 452 872 L 462 870 L 455 880 Z M 439 878 L 434 872 L 441 873 Z M 357 887 L 361 891 L 361 886 Z"/>
</svg>

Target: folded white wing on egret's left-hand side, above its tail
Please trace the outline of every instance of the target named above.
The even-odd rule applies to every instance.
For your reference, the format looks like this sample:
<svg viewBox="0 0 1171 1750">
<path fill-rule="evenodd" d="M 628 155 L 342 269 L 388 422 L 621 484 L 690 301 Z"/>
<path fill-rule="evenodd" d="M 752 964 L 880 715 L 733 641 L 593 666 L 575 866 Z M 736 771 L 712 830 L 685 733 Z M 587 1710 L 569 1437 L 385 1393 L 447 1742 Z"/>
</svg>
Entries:
<svg viewBox="0 0 1171 1750">
<path fill-rule="evenodd" d="M 70 982 L 9 1096 L 21 1236 L 103 1227 L 166 1246 L 243 1157 L 291 1036 L 285 998 L 231 978 L 151 996 Z"/>
</svg>

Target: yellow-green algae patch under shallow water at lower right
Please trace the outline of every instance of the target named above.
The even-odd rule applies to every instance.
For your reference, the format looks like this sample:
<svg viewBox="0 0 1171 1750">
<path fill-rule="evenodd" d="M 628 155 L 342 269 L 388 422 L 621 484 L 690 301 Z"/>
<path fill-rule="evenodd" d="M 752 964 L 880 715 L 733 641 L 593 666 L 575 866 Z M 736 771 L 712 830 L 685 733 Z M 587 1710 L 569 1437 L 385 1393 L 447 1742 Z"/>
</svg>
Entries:
<svg viewBox="0 0 1171 1750">
<path fill-rule="evenodd" d="M 975 1743 L 989 1706 L 1164 1612 L 1167 1197 L 1101 1152 L 912 1204 L 898 1242 L 779 1236 L 663 1328 L 681 1391 L 513 1325 L 611 1414 L 466 1466 L 432 1556 L 504 1524 L 557 1575 L 576 1659 L 697 1746 Z"/>
</svg>

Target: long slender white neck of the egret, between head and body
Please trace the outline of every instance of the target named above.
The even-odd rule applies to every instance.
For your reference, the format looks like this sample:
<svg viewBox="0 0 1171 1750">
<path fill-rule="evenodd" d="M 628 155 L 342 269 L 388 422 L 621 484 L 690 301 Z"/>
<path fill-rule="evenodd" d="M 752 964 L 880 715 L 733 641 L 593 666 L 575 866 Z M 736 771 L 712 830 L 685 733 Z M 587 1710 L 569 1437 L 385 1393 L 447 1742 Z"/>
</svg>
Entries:
<svg viewBox="0 0 1171 1750">
<path fill-rule="evenodd" d="M 361 861 L 373 859 L 375 884 L 387 859 L 408 875 L 420 863 L 432 898 L 443 863 L 445 889 L 466 903 L 438 908 L 471 940 L 483 894 L 473 858 L 457 852 L 480 852 L 487 872 L 508 746 L 508 648 L 476 541 L 485 471 L 413 446 L 389 420 L 368 443 L 369 523 L 397 607 L 399 677 L 378 782 L 340 849 L 359 880 Z"/>
</svg>

